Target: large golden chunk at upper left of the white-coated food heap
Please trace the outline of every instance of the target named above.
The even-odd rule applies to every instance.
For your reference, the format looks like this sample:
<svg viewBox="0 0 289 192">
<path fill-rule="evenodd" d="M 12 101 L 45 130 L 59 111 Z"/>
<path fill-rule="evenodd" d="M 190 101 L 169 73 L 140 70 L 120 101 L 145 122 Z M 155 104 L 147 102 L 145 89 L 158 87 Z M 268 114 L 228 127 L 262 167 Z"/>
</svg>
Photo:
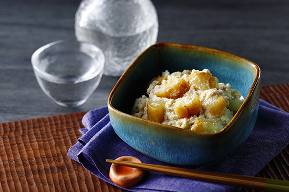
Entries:
<svg viewBox="0 0 289 192">
<path fill-rule="evenodd" d="M 155 92 L 158 97 L 179 98 L 190 89 L 189 84 L 182 78 L 169 78 L 162 81 L 160 88 Z"/>
</svg>

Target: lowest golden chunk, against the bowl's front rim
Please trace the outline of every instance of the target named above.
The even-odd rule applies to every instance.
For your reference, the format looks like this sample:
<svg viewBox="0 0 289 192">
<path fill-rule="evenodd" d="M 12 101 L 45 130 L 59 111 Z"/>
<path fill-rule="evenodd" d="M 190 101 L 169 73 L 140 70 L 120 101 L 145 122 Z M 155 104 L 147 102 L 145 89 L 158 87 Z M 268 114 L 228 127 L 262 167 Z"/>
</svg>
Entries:
<svg viewBox="0 0 289 192">
<path fill-rule="evenodd" d="M 203 133 L 217 133 L 218 131 L 220 131 L 218 124 L 214 120 L 210 119 L 203 120 L 199 117 L 195 119 L 192 128 L 193 131 Z"/>
</svg>

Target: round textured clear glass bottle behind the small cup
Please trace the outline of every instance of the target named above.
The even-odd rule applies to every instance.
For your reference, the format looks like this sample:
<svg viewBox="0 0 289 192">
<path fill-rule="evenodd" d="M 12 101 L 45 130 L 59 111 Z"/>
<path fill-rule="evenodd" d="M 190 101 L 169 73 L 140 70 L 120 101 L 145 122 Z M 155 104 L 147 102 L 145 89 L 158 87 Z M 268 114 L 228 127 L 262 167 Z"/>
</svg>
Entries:
<svg viewBox="0 0 289 192">
<path fill-rule="evenodd" d="M 151 0 L 82 0 L 75 15 L 77 40 L 100 47 L 106 76 L 121 76 L 142 51 L 156 43 L 157 33 Z"/>
</svg>

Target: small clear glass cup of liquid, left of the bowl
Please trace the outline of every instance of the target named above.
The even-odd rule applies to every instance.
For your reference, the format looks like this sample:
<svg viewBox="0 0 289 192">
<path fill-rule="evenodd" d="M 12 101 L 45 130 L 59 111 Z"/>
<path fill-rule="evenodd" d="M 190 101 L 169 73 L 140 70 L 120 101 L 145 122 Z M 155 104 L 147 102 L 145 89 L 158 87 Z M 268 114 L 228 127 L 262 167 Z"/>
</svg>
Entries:
<svg viewBox="0 0 289 192">
<path fill-rule="evenodd" d="M 64 107 L 87 101 L 99 85 L 104 62 L 104 54 L 96 45 L 68 39 L 44 45 L 31 57 L 41 89 Z"/>
</svg>

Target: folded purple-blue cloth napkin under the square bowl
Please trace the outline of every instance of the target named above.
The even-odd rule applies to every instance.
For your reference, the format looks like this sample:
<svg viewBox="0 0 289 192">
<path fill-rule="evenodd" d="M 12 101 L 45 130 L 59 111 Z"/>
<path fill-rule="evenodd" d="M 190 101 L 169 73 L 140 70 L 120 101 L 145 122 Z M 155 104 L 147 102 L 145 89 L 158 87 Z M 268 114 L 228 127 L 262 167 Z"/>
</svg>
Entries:
<svg viewBox="0 0 289 192">
<path fill-rule="evenodd" d="M 86 128 L 80 130 L 83 135 L 69 149 L 68 157 L 113 185 L 114 183 L 109 178 L 111 163 L 107 163 L 106 159 L 129 155 L 139 158 L 143 163 L 175 166 L 141 154 L 123 142 L 111 127 L 107 107 L 88 112 L 83 117 L 82 123 Z M 254 130 L 239 149 L 210 163 L 178 167 L 254 176 L 288 144 L 289 114 L 260 99 L 259 114 Z M 146 172 L 140 183 L 126 190 L 133 192 L 237 192 L 240 188 Z"/>
</svg>

